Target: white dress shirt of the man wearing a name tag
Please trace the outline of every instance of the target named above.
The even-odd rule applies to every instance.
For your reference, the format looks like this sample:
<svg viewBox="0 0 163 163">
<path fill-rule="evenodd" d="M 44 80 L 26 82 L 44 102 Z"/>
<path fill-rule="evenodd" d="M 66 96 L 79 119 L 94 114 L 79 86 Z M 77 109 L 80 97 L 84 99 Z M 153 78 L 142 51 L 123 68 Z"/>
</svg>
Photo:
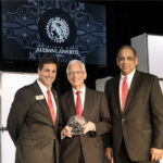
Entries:
<svg viewBox="0 0 163 163">
<path fill-rule="evenodd" d="M 39 79 L 37 79 L 37 83 L 38 83 L 38 86 L 40 87 L 40 89 L 41 89 L 41 91 L 46 98 L 47 103 L 48 103 L 48 93 L 47 93 L 48 89 L 47 89 L 47 87 Z M 52 104 L 53 104 L 53 109 L 54 109 L 54 113 L 55 113 L 55 117 L 57 117 L 57 103 L 55 103 L 54 97 L 51 92 L 51 87 L 49 88 L 49 90 L 51 93 Z"/>
</svg>

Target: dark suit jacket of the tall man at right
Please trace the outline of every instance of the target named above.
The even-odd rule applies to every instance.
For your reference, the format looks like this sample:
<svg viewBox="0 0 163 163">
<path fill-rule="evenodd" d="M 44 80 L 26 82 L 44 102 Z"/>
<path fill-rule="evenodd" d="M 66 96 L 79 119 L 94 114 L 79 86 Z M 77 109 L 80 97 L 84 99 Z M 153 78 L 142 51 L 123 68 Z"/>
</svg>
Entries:
<svg viewBox="0 0 163 163">
<path fill-rule="evenodd" d="M 147 160 L 150 148 L 163 149 L 163 96 L 159 80 L 153 75 L 136 71 L 122 114 L 120 77 L 118 75 L 105 84 L 112 117 L 112 135 L 108 147 L 113 147 L 114 159 L 117 160 L 124 138 L 133 161 Z"/>
</svg>

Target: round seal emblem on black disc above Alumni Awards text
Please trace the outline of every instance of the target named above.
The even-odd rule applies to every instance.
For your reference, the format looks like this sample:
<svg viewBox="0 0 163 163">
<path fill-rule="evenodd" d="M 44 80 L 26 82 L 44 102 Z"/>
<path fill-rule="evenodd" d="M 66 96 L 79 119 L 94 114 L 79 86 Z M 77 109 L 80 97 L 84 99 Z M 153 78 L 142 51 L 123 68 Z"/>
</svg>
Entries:
<svg viewBox="0 0 163 163">
<path fill-rule="evenodd" d="M 74 20 L 59 9 L 42 14 L 38 23 L 38 32 L 46 46 L 71 47 L 76 39 Z"/>
</svg>

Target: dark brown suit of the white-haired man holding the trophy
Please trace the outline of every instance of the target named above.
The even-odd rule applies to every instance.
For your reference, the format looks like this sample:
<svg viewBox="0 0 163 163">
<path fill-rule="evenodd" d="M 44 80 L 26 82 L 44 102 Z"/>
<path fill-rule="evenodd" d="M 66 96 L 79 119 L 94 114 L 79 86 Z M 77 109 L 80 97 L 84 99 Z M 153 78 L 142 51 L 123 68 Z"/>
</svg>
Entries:
<svg viewBox="0 0 163 163">
<path fill-rule="evenodd" d="M 73 90 L 65 92 L 60 100 L 63 126 L 71 116 L 76 115 Z M 85 163 L 103 163 L 104 145 L 103 135 L 111 128 L 110 113 L 105 95 L 86 88 L 85 106 L 83 116 L 96 125 L 96 133 L 87 133 L 61 141 L 61 163 L 78 163 L 80 151 Z"/>
</svg>

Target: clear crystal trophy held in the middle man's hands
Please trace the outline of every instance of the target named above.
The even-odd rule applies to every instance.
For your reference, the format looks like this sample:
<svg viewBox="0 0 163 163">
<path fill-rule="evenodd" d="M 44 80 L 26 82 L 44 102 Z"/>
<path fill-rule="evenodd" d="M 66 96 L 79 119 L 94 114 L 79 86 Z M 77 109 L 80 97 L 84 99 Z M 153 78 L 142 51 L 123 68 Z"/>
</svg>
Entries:
<svg viewBox="0 0 163 163">
<path fill-rule="evenodd" d="M 68 120 L 67 125 L 72 127 L 72 135 L 82 135 L 84 134 L 86 123 L 84 116 L 74 115 Z"/>
</svg>

